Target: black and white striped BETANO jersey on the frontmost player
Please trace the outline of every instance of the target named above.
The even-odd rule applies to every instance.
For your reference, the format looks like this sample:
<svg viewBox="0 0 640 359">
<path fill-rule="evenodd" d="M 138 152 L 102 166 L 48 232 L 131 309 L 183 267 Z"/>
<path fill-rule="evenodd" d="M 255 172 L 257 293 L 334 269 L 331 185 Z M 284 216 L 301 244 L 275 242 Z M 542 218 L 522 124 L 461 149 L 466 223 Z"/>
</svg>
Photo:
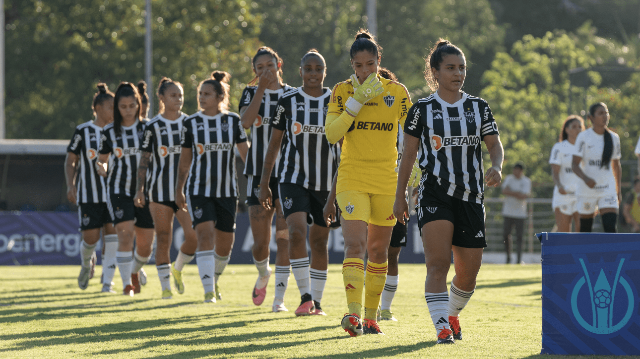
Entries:
<svg viewBox="0 0 640 359">
<path fill-rule="evenodd" d="M 404 122 L 404 132 L 421 140 L 418 158 L 423 173 L 435 175 L 449 196 L 483 203 L 480 141 L 484 136 L 499 134 L 485 100 L 463 93 L 462 99 L 449 104 L 436 92 L 412 106 Z M 423 175 L 420 180 L 420 206 L 426 179 Z"/>
</svg>

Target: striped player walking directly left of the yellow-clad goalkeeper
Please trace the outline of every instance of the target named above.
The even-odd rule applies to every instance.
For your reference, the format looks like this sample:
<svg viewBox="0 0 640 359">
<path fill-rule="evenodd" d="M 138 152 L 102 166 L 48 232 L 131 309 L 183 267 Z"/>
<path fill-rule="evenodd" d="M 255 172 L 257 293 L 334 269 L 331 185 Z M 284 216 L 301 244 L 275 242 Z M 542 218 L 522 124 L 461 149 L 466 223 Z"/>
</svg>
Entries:
<svg viewBox="0 0 640 359">
<path fill-rule="evenodd" d="M 326 63 L 316 49 L 308 51 L 300 61 L 300 77 L 303 85 L 285 92 L 278 100 L 262 173 L 271 173 L 282 148 L 278 166 L 280 198 L 289 227 L 289 258 L 301 296 L 295 313 L 326 315 L 320 308 L 329 260 L 329 226 L 323 219 L 323 208 L 337 170 L 337 145 L 330 145 L 324 136 L 324 109 L 331 90 L 323 87 Z M 272 192 L 266 176 L 260 180 L 259 200 L 266 211 L 271 211 Z M 309 217 L 311 269 L 307 253 Z"/>
</svg>

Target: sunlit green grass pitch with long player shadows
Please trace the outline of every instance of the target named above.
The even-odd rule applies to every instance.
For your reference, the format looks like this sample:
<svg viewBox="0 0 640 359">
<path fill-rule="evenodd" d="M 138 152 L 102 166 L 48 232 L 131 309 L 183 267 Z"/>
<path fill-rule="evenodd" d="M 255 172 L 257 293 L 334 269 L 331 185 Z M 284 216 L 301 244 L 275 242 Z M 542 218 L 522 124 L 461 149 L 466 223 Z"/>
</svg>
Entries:
<svg viewBox="0 0 640 359">
<path fill-rule="evenodd" d="M 330 265 L 322 300 L 326 317 L 295 317 L 291 276 L 285 305 L 272 313 L 273 280 L 261 307 L 251 293 L 255 266 L 228 266 L 223 300 L 202 303 L 197 267 L 184 269 L 186 291 L 161 299 L 154 266 L 134 298 L 100 293 L 98 278 L 77 287 L 79 267 L 0 267 L 0 358 L 579 358 L 539 355 L 540 266 L 486 265 L 461 314 L 464 339 L 435 346 L 424 302 L 424 264 L 403 264 L 386 333 L 349 337 L 341 267 Z M 452 271 L 451 271 L 452 272 Z M 96 268 L 99 277 L 100 268 Z M 449 280 L 451 280 L 451 276 Z M 122 288 L 116 271 L 115 289 Z M 584 356 L 586 357 L 586 356 Z M 589 356 L 593 358 L 593 356 Z M 605 358 L 600 356 L 599 358 Z"/>
</svg>

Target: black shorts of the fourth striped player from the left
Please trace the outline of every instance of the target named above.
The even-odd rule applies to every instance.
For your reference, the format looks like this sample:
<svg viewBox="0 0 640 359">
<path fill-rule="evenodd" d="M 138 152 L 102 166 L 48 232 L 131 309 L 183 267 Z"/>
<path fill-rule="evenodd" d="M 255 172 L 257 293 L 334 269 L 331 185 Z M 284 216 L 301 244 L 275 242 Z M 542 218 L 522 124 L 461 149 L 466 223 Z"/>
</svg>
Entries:
<svg viewBox="0 0 640 359">
<path fill-rule="evenodd" d="M 214 221 L 222 232 L 236 231 L 237 197 L 187 196 L 187 207 L 193 228 L 207 221 Z"/>
</svg>

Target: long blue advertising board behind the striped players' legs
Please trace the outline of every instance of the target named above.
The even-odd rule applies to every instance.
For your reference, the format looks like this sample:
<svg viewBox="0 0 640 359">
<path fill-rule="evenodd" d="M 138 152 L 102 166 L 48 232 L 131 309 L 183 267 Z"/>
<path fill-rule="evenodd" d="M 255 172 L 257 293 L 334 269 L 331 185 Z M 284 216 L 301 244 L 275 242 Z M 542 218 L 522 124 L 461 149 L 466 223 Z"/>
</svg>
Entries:
<svg viewBox="0 0 640 359">
<path fill-rule="evenodd" d="M 53 264 L 80 264 L 81 234 L 78 231 L 78 216 L 75 212 L 6 211 L 0 212 L 0 266 Z M 275 228 L 271 231 L 271 262 L 275 261 Z M 177 220 L 173 222 L 173 245 L 171 258 L 175 259 L 184 231 Z M 417 221 L 409 222 L 407 246 L 400 253 L 402 263 L 424 263 L 424 250 Z M 240 213 L 236 221 L 236 241 L 231 253 L 231 264 L 253 264 L 251 247 L 253 234 L 249 216 Z M 155 246 L 155 243 L 154 243 Z M 101 243 L 96 246 L 100 264 Z M 155 248 L 154 248 L 155 250 Z M 332 230 L 328 241 L 329 262 L 344 260 L 344 238 L 342 230 Z M 154 263 L 152 255 L 150 263 Z"/>
</svg>

